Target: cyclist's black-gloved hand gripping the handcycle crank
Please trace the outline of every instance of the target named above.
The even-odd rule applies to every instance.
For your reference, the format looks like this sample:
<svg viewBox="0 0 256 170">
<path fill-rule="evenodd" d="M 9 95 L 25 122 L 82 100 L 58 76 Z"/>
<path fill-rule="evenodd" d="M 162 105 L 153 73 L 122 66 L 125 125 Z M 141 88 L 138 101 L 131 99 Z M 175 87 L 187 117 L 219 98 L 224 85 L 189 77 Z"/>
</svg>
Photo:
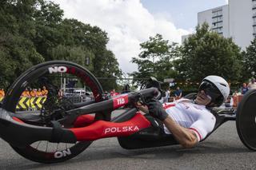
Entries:
<svg viewBox="0 0 256 170">
<path fill-rule="evenodd" d="M 148 105 L 149 113 L 152 117 L 158 118 L 160 121 L 164 121 L 166 117 L 168 117 L 168 114 L 166 113 L 166 110 L 163 109 L 162 103 L 160 103 L 156 99 L 152 99 Z"/>
</svg>

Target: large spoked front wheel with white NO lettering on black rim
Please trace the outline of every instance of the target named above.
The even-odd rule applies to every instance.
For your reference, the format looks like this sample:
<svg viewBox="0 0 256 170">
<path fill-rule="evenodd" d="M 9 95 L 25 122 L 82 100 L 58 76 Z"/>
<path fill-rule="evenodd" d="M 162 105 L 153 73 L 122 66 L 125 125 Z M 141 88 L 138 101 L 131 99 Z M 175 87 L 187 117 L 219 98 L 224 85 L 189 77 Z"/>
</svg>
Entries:
<svg viewBox="0 0 256 170">
<path fill-rule="evenodd" d="M 66 110 L 102 101 L 102 93 L 96 77 L 82 66 L 69 61 L 48 61 L 28 69 L 14 81 L 2 108 L 26 124 L 50 127 L 50 121 L 66 117 Z M 24 147 L 11 146 L 29 160 L 56 163 L 77 156 L 90 144 L 43 140 Z"/>
</svg>

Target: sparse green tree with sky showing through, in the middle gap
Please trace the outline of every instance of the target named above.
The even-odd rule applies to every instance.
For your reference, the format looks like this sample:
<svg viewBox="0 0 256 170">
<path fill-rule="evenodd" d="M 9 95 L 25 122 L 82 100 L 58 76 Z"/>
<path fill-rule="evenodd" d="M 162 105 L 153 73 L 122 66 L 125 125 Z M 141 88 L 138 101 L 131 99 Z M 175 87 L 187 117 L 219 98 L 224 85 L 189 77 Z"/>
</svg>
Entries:
<svg viewBox="0 0 256 170">
<path fill-rule="evenodd" d="M 144 83 L 146 78 L 152 76 L 160 81 L 175 76 L 173 60 L 179 55 L 176 43 L 170 44 L 162 35 L 156 34 L 140 46 L 142 52 L 138 57 L 132 58 L 132 62 L 138 65 L 138 72 L 130 74 L 138 79 L 135 81 L 137 84 Z"/>
</svg>

